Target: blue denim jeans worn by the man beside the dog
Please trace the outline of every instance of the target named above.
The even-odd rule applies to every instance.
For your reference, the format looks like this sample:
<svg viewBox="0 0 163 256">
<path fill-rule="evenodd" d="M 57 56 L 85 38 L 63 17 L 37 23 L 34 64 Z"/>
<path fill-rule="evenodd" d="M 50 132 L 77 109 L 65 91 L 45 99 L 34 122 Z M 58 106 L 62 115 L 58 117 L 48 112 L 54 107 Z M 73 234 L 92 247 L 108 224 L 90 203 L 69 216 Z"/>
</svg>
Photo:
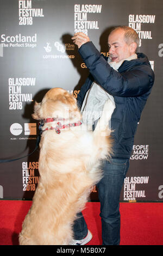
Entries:
<svg viewBox="0 0 163 256">
<path fill-rule="evenodd" d="M 103 179 L 99 182 L 98 196 L 101 203 L 103 245 L 120 244 L 120 194 L 129 168 L 129 159 L 112 159 L 102 163 Z M 87 225 L 82 213 L 74 222 L 74 239 L 87 235 Z"/>
</svg>

